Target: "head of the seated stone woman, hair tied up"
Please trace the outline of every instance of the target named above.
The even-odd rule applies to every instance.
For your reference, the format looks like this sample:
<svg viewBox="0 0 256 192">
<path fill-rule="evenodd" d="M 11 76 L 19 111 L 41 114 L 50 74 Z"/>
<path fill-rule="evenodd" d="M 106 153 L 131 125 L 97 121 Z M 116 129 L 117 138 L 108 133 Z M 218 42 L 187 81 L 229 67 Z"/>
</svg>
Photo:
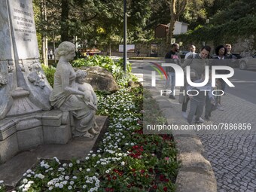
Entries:
<svg viewBox="0 0 256 192">
<path fill-rule="evenodd" d="M 59 44 L 59 47 L 55 50 L 56 57 L 59 58 L 60 56 L 68 56 L 70 55 L 70 59 L 75 57 L 75 44 L 69 41 L 63 41 Z"/>
</svg>

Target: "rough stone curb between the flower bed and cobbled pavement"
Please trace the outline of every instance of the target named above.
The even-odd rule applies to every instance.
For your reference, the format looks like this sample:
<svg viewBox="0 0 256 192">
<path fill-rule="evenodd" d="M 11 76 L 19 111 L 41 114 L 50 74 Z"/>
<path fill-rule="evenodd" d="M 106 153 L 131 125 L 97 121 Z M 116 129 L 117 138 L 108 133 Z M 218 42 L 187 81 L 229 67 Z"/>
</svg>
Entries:
<svg viewBox="0 0 256 192">
<path fill-rule="evenodd" d="M 147 87 L 156 99 L 163 115 L 169 125 L 175 124 L 179 127 L 186 125 L 187 121 L 181 117 L 181 111 L 172 108 L 169 100 L 160 96 L 157 89 Z M 195 131 L 172 131 L 178 150 L 177 160 L 181 161 L 176 178 L 177 192 L 216 192 L 217 181 L 212 170 L 211 163 L 206 159 L 206 154 L 200 139 Z"/>
</svg>

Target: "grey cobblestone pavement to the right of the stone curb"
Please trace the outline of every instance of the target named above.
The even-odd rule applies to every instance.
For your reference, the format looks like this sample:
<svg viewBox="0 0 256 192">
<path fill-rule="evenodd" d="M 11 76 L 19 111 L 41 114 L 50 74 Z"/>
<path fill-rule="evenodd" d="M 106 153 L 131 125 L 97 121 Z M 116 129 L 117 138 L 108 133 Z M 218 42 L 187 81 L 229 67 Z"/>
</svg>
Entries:
<svg viewBox="0 0 256 192">
<path fill-rule="evenodd" d="M 160 90 L 163 87 L 157 87 Z M 178 88 L 176 89 L 178 91 Z M 166 96 L 168 98 L 168 96 Z M 181 116 L 181 104 L 176 99 L 168 99 L 175 114 Z M 203 147 L 212 164 L 218 182 L 219 192 L 256 191 L 256 105 L 227 93 L 221 97 L 224 111 L 212 111 L 211 121 L 205 125 L 221 125 L 230 129 L 234 123 L 251 125 L 251 130 L 200 131 Z M 188 103 L 187 111 L 189 110 Z M 242 124 L 240 124 L 242 125 Z"/>
</svg>

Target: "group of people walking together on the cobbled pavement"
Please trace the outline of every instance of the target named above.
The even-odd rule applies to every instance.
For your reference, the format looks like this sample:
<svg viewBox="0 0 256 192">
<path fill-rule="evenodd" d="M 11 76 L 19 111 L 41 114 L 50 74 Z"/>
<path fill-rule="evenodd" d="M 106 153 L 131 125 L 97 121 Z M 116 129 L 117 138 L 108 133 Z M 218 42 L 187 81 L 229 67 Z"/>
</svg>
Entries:
<svg viewBox="0 0 256 192">
<path fill-rule="evenodd" d="M 216 80 L 216 87 L 212 87 L 211 83 L 211 68 L 212 66 L 230 66 L 229 63 L 236 59 L 235 56 L 230 52 L 231 44 L 221 44 L 215 47 L 215 56 L 210 59 L 211 47 L 203 46 L 200 53 L 196 53 L 196 47 L 191 44 L 190 52 L 188 52 L 184 57 L 184 62 L 181 62 L 181 57 L 179 55 L 179 45 L 172 44 L 171 50 L 166 53 L 165 59 L 166 63 L 174 63 L 181 66 L 184 71 L 186 66 L 190 66 L 190 81 L 194 83 L 201 83 L 205 80 L 206 66 L 209 66 L 209 81 L 203 87 L 193 87 L 188 86 L 186 78 L 184 77 L 184 87 L 180 88 L 178 101 L 182 104 L 182 116 L 187 119 L 188 123 L 192 123 L 195 117 L 195 123 L 203 123 L 204 120 L 209 120 L 211 117 L 211 112 L 218 108 L 220 111 L 224 111 L 221 105 L 221 96 L 225 95 L 224 90 L 226 83 L 223 79 Z M 166 73 L 168 79 L 166 81 L 165 90 L 171 90 L 169 99 L 175 98 L 175 70 L 172 67 L 166 67 Z M 217 70 L 217 74 L 227 74 L 227 70 Z M 184 72 L 184 74 L 186 74 Z M 221 90 L 218 96 L 212 95 L 212 90 Z M 191 91 L 187 95 L 187 90 Z M 207 93 L 203 90 L 209 90 Z M 193 94 L 196 91 L 197 94 Z M 166 95 L 166 94 L 163 94 Z M 193 95 L 193 96 L 192 96 Z M 190 101 L 190 111 L 187 114 L 187 103 Z M 205 116 L 202 117 L 203 108 L 205 108 Z"/>
</svg>

